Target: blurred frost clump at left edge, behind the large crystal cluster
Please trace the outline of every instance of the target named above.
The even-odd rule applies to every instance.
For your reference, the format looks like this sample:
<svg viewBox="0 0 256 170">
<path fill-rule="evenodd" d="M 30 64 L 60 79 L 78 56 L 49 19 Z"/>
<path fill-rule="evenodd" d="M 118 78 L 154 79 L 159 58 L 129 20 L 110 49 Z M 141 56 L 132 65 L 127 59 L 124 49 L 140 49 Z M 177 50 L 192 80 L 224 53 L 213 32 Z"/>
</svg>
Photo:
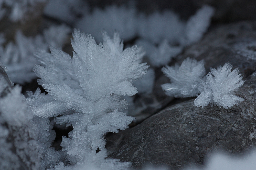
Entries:
<svg viewBox="0 0 256 170">
<path fill-rule="evenodd" d="M 7 67 L 7 74 L 14 83 L 23 84 L 36 78 L 32 71 L 36 64 L 34 53 L 38 48 L 47 50 L 49 45 L 61 48 L 65 43 L 70 28 L 66 25 L 51 26 L 43 31 L 43 35 L 26 37 L 20 30 L 15 36 L 15 43 L 5 46 L 3 34 L 0 46 L 0 61 Z"/>
</svg>

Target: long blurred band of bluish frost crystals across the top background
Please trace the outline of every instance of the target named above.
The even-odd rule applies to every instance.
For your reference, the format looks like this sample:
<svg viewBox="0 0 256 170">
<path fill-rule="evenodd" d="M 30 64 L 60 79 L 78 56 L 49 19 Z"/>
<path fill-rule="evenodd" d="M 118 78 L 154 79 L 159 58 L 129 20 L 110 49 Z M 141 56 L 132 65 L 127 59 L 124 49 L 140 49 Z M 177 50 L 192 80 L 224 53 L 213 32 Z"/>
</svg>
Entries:
<svg viewBox="0 0 256 170">
<path fill-rule="evenodd" d="M 75 27 L 92 33 L 96 41 L 101 39 L 101 30 L 118 30 L 125 41 L 138 36 L 136 44 L 144 47 L 150 64 L 159 67 L 168 64 L 186 45 L 198 41 L 206 32 L 213 14 L 212 7 L 203 6 L 184 22 L 168 10 L 145 15 L 134 8 L 109 6 L 104 10 L 94 9 L 78 20 Z"/>
</svg>

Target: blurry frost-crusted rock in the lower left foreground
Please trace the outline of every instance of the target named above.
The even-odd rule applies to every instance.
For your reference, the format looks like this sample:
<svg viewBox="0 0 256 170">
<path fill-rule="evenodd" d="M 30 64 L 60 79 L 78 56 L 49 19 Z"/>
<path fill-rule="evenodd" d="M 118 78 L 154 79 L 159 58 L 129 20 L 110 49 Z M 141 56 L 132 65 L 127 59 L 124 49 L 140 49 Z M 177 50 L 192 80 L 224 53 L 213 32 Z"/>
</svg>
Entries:
<svg viewBox="0 0 256 170">
<path fill-rule="evenodd" d="M 0 169 L 45 169 L 40 168 L 41 159 L 55 139 L 53 124 L 33 116 L 21 87 L 12 87 L 4 74 L 1 70 L 1 87 L 5 88 L 0 90 Z"/>
</svg>

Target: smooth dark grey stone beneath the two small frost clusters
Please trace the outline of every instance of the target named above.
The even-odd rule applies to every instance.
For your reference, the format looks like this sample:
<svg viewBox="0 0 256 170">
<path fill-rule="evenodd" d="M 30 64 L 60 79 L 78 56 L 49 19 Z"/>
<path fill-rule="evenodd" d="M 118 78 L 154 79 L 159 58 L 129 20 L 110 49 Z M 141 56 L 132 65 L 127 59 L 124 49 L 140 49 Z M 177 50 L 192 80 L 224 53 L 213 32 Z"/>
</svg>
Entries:
<svg viewBox="0 0 256 170">
<path fill-rule="evenodd" d="M 191 164 L 203 166 L 216 150 L 243 154 L 256 145 L 256 72 L 235 94 L 245 100 L 232 108 L 197 108 L 193 100 L 170 106 L 137 126 L 106 136 L 108 158 L 172 170 Z"/>
</svg>

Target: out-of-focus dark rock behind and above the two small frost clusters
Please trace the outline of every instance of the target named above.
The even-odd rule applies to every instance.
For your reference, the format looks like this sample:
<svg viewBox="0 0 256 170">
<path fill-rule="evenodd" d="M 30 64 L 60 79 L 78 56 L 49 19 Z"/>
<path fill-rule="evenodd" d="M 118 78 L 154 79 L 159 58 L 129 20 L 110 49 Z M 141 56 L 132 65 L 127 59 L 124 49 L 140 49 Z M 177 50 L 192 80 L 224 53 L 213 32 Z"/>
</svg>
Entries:
<svg viewBox="0 0 256 170">
<path fill-rule="evenodd" d="M 247 77 L 256 70 L 256 22 L 215 26 L 201 41 L 186 48 L 176 62 L 181 64 L 187 57 L 204 59 L 206 71 L 230 62 Z"/>
</svg>

